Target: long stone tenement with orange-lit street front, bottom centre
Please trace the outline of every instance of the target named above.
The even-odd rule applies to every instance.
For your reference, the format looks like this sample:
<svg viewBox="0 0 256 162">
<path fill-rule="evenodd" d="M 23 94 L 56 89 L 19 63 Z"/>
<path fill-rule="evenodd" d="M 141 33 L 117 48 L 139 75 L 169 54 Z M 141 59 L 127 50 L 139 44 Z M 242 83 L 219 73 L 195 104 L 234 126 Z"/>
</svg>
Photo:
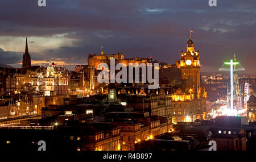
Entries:
<svg viewBox="0 0 256 162">
<path fill-rule="evenodd" d="M 148 111 L 110 112 L 105 114 L 105 119 L 120 128 L 122 151 L 132 151 L 136 143 L 154 139 L 173 128 L 171 118 L 150 117 Z"/>
</svg>

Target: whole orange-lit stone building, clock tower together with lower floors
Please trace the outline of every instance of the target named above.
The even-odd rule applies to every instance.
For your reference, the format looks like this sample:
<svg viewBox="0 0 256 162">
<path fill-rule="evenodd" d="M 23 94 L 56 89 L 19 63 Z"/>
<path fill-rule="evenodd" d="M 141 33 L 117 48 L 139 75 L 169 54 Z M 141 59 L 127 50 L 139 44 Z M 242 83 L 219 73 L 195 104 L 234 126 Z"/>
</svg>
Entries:
<svg viewBox="0 0 256 162">
<path fill-rule="evenodd" d="M 172 94 L 172 123 L 193 122 L 206 118 L 207 92 L 200 86 L 200 54 L 195 52 L 191 37 L 187 51 L 181 51 L 181 86 Z M 183 87 L 184 86 L 184 87 Z"/>
</svg>

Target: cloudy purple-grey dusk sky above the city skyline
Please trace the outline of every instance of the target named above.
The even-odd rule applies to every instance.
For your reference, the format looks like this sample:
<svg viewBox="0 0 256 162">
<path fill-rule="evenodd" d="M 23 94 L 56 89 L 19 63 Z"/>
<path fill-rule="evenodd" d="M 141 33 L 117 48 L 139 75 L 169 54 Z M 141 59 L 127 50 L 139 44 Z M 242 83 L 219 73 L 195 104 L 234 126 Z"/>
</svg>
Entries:
<svg viewBox="0 0 256 162">
<path fill-rule="evenodd" d="M 89 53 L 122 52 L 174 64 L 192 29 L 202 72 L 237 60 L 256 73 L 255 0 L 38 0 L 0 1 L 0 64 L 19 67 L 28 37 L 32 64 L 86 64 Z"/>
</svg>

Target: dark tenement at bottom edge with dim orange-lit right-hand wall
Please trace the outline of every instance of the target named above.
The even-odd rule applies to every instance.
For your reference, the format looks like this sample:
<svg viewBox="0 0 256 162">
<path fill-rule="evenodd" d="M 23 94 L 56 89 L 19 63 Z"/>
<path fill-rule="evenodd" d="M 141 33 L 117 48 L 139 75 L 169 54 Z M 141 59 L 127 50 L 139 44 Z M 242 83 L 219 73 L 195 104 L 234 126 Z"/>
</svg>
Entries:
<svg viewBox="0 0 256 162">
<path fill-rule="evenodd" d="M 57 127 L 53 150 L 120 151 L 120 129 L 112 123 L 68 123 Z"/>
</svg>

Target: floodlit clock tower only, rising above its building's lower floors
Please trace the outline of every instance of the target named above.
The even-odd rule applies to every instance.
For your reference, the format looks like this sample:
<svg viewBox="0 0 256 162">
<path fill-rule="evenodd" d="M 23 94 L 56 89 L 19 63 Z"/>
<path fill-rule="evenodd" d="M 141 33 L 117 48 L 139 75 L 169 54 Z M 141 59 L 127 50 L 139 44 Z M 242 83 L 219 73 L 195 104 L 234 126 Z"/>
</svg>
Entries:
<svg viewBox="0 0 256 162">
<path fill-rule="evenodd" d="M 180 53 L 181 81 L 190 88 L 195 98 L 200 98 L 200 55 L 195 52 L 191 36 L 187 43 L 186 52 Z"/>
</svg>

